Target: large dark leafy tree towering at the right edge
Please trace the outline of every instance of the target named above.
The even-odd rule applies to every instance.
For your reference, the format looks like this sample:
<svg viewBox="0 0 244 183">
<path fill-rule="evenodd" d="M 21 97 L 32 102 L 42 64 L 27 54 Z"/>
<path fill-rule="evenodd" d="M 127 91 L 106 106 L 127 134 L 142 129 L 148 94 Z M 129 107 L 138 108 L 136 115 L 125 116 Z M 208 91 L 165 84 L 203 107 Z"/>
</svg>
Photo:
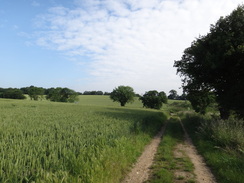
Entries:
<svg viewBox="0 0 244 183">
<path fill-rule="evenodd" d="M 231 110 L 244 117 L 244 5 L 211 25 L 174 66 L 188 94 L 214 92 L 223 119 Z"/>
</svg>

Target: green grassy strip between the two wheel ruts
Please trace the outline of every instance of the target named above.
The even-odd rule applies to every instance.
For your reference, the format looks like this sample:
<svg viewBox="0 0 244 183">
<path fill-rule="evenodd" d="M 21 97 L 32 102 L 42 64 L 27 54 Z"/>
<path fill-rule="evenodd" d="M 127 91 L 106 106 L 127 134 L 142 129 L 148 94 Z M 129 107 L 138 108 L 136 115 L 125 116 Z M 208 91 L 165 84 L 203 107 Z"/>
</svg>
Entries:
<svg viewBox="0 0 244 183">
<path fill-rule="evenodd" d="M 177 145 L 184 143 L 184 132 L 179 119 L 171 118 L 168 121 L 163 139 L 158 147 L 154 164 L 151 170 L 151 176 L 147 183 L 172 183 L 172 182 L 195 182 L 193 164 L 184 154 L 177 157 L 175 151 Z M 187 172 L 192 176 L 182 176 L 176 172 Z M 185 174 L 184 174 L 185 175 Z"/>
</svg>

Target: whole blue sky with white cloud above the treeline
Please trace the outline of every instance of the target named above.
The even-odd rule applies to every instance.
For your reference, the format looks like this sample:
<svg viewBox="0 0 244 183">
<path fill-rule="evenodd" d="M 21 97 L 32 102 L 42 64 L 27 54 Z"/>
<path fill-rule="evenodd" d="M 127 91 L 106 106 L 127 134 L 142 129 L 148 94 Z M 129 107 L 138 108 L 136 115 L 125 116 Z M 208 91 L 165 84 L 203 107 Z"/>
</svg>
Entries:
<svg viewBox="0 0 244 183">
<path fill-rule="evenodd" d="M 182 93 L 184 49 L 243 0 L 0 0 L 0 87 Z"/>
</svg>

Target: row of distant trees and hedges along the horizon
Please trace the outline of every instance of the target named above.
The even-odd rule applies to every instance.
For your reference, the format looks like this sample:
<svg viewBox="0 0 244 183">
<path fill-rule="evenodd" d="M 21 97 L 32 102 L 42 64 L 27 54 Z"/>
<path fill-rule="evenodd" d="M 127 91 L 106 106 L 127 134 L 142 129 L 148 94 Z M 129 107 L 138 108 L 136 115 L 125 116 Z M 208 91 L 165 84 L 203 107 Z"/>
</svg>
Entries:
<svg viewBox="0 0 244 183">
<path fill-rule="evenodd" d="M 129 91 L 128 91 L 129 90 Z M 169 95 L 166 96 L 165 92 L 158 92 L 151 90 L 145 92 L 143 96 L 136 94 L 132 87 L 119 86 L 113 92 L 102 91 L 85 91 L 84 93 L 76 92 L 69 88 L 43 88 L 43 87 L 22 87 L 18 88 L 0 88 L 0 98 L 10 99 L 26 99 L 28 95 L 31 100 L 47 99 L 53 102 L 76 102 L 78 95 L 108 95 L 113 101 L 120 102 L 121 106 L 126 103 L 132 102 L 134 97 L 138 97 L 142 101 L 143 106 L 147 108 L 160 109 L 162 103 L 167 103 L 168 99 L 172 100 L 185 100 L 185 95 L 178 95 L 176 90 L 170 90 Z"/>
</svg>

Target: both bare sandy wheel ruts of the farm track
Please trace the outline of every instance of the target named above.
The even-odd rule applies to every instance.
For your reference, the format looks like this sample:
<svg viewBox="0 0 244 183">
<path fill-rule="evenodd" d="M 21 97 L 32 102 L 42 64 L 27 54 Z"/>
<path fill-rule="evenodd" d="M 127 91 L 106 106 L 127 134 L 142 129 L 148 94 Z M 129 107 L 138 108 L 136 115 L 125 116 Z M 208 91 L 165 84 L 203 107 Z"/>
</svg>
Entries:
<svg viewBox="0 0 244 183">
<path fill-rule="evenodd" d="M 207 167 L 204 159 L 201 155 L 197 153 L 195 146 L 193 145 L 187 131 L 180 121 L 180 124 L 184 131 L 185 142 L 183 144 L 178 144 L 176 149 L 184 152 L 191 162 L 194 165 L 194 175 L 196 177 L 197 183 L 216 183 L 216 180 L 211 173 L 210 169 Z M 163 134 L 165 131 L 167 124 L 163 126 L 160 132 L 153 138 L 151 143 L 146 146 L 142 155 L 138 158 L 137 163 L 132 168 L 131 172 L 126 176 L 126 178 L 122 181 L 122 183 L 143 183 L 145 182 L 150 175 L 150 167 L 153 164 L 154 156 L 157 152 L 157 148 L 159 143 L 163 138 Z M 175 152 L 174 152 L 175 154 Z M 182 172 L 174 172 L 175 176 L 178 176 Z M 189 175 L 189 176 L 194 176 Z M 179 181 L 177 181 L 179 182 Z"/>
</svg>

